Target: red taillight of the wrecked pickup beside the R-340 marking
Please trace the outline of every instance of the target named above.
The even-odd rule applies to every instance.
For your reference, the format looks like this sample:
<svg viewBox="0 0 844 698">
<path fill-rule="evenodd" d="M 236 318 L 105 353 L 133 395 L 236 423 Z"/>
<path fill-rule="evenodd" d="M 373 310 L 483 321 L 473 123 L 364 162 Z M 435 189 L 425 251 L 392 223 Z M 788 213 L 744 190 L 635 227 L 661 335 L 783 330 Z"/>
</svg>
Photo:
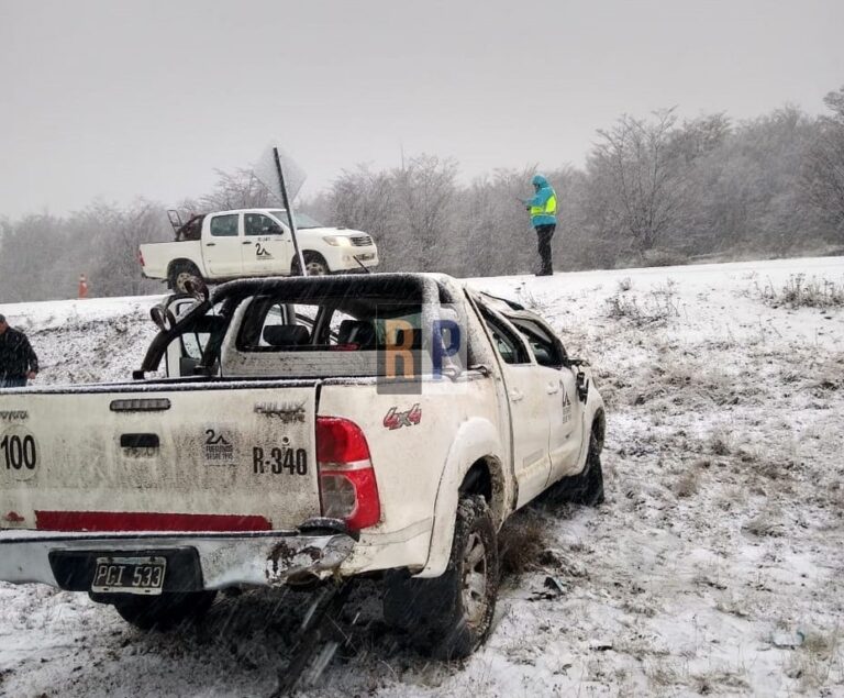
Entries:
<svg viewBox="0 0 844 698">
<path fill-rule="evenodd" d="M 316 462 L 322 516 L 343 519 L 353 531 L 380 521 L 369 445 L 357 424 L 341 417 L 318 417 Z"/>
</svg>

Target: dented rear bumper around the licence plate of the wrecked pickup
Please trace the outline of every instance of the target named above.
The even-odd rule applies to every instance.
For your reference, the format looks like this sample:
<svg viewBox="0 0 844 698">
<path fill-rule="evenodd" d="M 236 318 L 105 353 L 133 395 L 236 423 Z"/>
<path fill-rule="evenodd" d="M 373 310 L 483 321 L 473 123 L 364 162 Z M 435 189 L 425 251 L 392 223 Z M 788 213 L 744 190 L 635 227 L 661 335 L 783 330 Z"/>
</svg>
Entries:
<svg viewBox="0 0 844 698">
<path fill-rule="evenodd" d="M 40 581 L 68 588 L 66 583 L 56 579 L 51 553 L 113 555 L 153 551 L 167 554 L 187 549 L 196 551 L 199 561 L 200 575 L 191 583 L 198 588 L 275 587 L 332 576 L 351 555 L 354 545 L 352 536 L 334 532 L 103 534 L 5 531 L 0 533 L 0 580 L 14 584 Z M 54 554 L 53 558 L 56 557 Z"/>
</svg>

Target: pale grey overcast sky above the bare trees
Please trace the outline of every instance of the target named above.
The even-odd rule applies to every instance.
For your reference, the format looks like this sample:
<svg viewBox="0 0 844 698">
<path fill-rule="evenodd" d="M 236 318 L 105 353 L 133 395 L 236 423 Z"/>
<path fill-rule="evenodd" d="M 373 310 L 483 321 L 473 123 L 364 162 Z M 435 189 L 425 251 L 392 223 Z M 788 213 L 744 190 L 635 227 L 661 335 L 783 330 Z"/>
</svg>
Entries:
<svg viewBox="0 0 844 698">
<path fill-rule="evenodd" d="M 582 164 L 622 112 L 823 111 L 844 0 L 0 0 L 0 215 L 174 203 L 274 136 L 309 174 Z"/>
</svg>

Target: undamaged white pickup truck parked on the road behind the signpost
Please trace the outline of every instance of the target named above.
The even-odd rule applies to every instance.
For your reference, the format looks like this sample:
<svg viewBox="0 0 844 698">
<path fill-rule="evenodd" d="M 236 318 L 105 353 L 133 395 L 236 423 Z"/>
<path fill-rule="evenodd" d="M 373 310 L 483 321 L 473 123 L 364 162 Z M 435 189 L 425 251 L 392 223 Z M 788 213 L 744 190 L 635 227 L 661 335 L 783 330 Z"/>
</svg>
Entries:
<svg viewBox="0 0 844 698">
<path fill-rule="evenodd" d="M 325 228 L 303 213 L 296 214 L 296 226 L 308 276 L 378 265 L 378 248 L 366 233 Z M 175 242 L 141 245 L 138 262 L 146 278 L 164 279 L 176 291 L 191 279 L 300 273 L 287 212 L 277 209 L 196 215 L 177 230 Z"/>
</svg>

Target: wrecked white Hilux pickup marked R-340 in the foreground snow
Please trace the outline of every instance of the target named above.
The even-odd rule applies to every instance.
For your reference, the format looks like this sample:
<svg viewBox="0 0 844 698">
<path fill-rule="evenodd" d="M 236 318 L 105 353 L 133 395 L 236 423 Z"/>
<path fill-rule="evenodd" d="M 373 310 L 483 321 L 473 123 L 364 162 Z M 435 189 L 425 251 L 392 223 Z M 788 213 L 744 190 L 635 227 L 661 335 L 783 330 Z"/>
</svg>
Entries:
<svg viewBox="0 0 844 698">
<path fill-rule="evenodd" d="M 590 369 L 515 303 L 376 274 L 153 315 L 134 381 L 0 391 L 0 579 L 152 628 L 220 589 L 380 576 L 386 620 L 458 657 L 490 631 L 510 514 L 552 487 L 603 501 Z"/>
</svg>

